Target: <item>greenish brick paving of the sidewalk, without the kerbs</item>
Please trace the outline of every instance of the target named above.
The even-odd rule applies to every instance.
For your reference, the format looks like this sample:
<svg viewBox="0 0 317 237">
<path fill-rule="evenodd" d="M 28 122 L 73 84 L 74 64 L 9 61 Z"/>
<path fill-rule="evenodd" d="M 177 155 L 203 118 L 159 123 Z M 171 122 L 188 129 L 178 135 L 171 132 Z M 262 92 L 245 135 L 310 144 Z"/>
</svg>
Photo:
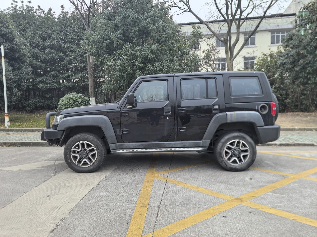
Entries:
<svg viewBox="0 0 317 237">
<path fill-rule="evenodd" d="M 41 132 L 0 132 L 0 142 L 41 142 Z M 281 131 L 273 143 L 317 143 L 317 131 Z"/>
</svg>

